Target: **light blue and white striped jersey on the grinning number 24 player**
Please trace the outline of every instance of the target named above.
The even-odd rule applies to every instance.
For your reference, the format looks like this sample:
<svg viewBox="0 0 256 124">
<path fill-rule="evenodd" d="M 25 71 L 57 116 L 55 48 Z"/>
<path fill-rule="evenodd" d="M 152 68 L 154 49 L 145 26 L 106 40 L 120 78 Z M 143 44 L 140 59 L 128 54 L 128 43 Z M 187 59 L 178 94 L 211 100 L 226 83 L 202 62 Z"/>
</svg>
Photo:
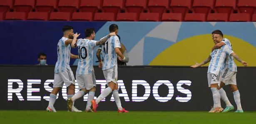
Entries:
<svg viewBox="0 0 256 124">
<path fill-rule="evenodd" d="M 223 65 L 225 64 L 224 61 L 227 55 L 233 53 L 233 50 L 229 45 L 224 45 L 219 49 L 215 49 L 211 52 L 211 62 L 208 67 L 207 73 L 220 71 Z"/>
</svg>

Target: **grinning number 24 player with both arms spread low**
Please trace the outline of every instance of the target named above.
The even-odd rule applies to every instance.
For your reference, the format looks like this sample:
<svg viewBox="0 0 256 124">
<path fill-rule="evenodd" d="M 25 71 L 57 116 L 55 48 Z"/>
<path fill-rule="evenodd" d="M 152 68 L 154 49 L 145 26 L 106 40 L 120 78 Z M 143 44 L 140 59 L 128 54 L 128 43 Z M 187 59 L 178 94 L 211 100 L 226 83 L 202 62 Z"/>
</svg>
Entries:
<svg viewBox="0 0 256 124">
<path fill-rule="evenodd" d="M 213 34 L 213 40 L 215 44 L 219 43 L 220 41 L 223 40 L 223 34 L 221 32 L 215 32 Z M 201 62 L 200 64 L 196 63 L 195 65 L 191 66 L 191 67 L 200 67 L 201 65 L 204 65 L 211 60 L 207 73 L 208 73 L 208 84 L 209 84 L 209 87 L 211 87 L 211 91 L 213 93 L 214 107 L 209 112 L 221 112 L 223 110 L 220 104 L 220 93 L 218 91 L 218 83 L 221 82 L 221 77 L 220 77 L 221 69 L 225 67 L 224 60 L 227 55 L 233 56 L 235 59 L 240 60 L 239 62 L 241 62 L 242 64 L 247 65 L 246 62 L 242 61 L 235 54 L 235 52 L 233 52 L 233 50 L 229 45 L 224 45 L 221 48 L 215 49 L 213 52 L 211 52 L 211 55 L 204 62 Z"/>
</svg>

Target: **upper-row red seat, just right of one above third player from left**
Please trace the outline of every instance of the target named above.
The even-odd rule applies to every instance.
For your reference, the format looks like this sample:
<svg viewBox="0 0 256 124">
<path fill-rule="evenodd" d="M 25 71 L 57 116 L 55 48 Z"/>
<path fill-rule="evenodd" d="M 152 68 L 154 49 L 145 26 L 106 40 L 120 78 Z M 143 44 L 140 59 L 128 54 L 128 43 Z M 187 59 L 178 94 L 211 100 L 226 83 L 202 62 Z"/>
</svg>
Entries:
<svg viewBox="0 0 256 124">
<path fill-rule="evenodd" d="M 126 0 L 125 8 L 126 12 L 136 12 L 139 17 L 147 8 L 147 0 Z"/>
</svg>

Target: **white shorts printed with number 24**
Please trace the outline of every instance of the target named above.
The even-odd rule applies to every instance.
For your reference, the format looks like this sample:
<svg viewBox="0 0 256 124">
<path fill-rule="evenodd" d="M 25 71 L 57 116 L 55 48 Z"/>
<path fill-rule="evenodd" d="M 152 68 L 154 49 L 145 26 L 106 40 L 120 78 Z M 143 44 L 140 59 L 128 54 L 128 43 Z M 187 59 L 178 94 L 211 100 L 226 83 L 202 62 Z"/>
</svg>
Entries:
<svg viewBox="0 0 256 124">
<path fill-rule="evenodd" d="M 207 78 L 208 78 L 208 86 L 209 87 L 211 87 L 211 84 L 221 83 L 220 71 L 207 73 Z"/>
</svg>

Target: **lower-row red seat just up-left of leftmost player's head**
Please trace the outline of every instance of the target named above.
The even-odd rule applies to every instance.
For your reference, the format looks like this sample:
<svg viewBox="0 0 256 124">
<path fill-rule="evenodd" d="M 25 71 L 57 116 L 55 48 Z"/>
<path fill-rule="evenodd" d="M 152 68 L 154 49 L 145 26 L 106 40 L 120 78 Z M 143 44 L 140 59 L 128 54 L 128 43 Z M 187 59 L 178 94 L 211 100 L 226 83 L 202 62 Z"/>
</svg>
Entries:
<svg viewBox="0 0 256 124">
<path fill-rule="evenodd" d="M 69 21 L 70 12 L 51 12 L 50 21 Z"/>
</svg>

